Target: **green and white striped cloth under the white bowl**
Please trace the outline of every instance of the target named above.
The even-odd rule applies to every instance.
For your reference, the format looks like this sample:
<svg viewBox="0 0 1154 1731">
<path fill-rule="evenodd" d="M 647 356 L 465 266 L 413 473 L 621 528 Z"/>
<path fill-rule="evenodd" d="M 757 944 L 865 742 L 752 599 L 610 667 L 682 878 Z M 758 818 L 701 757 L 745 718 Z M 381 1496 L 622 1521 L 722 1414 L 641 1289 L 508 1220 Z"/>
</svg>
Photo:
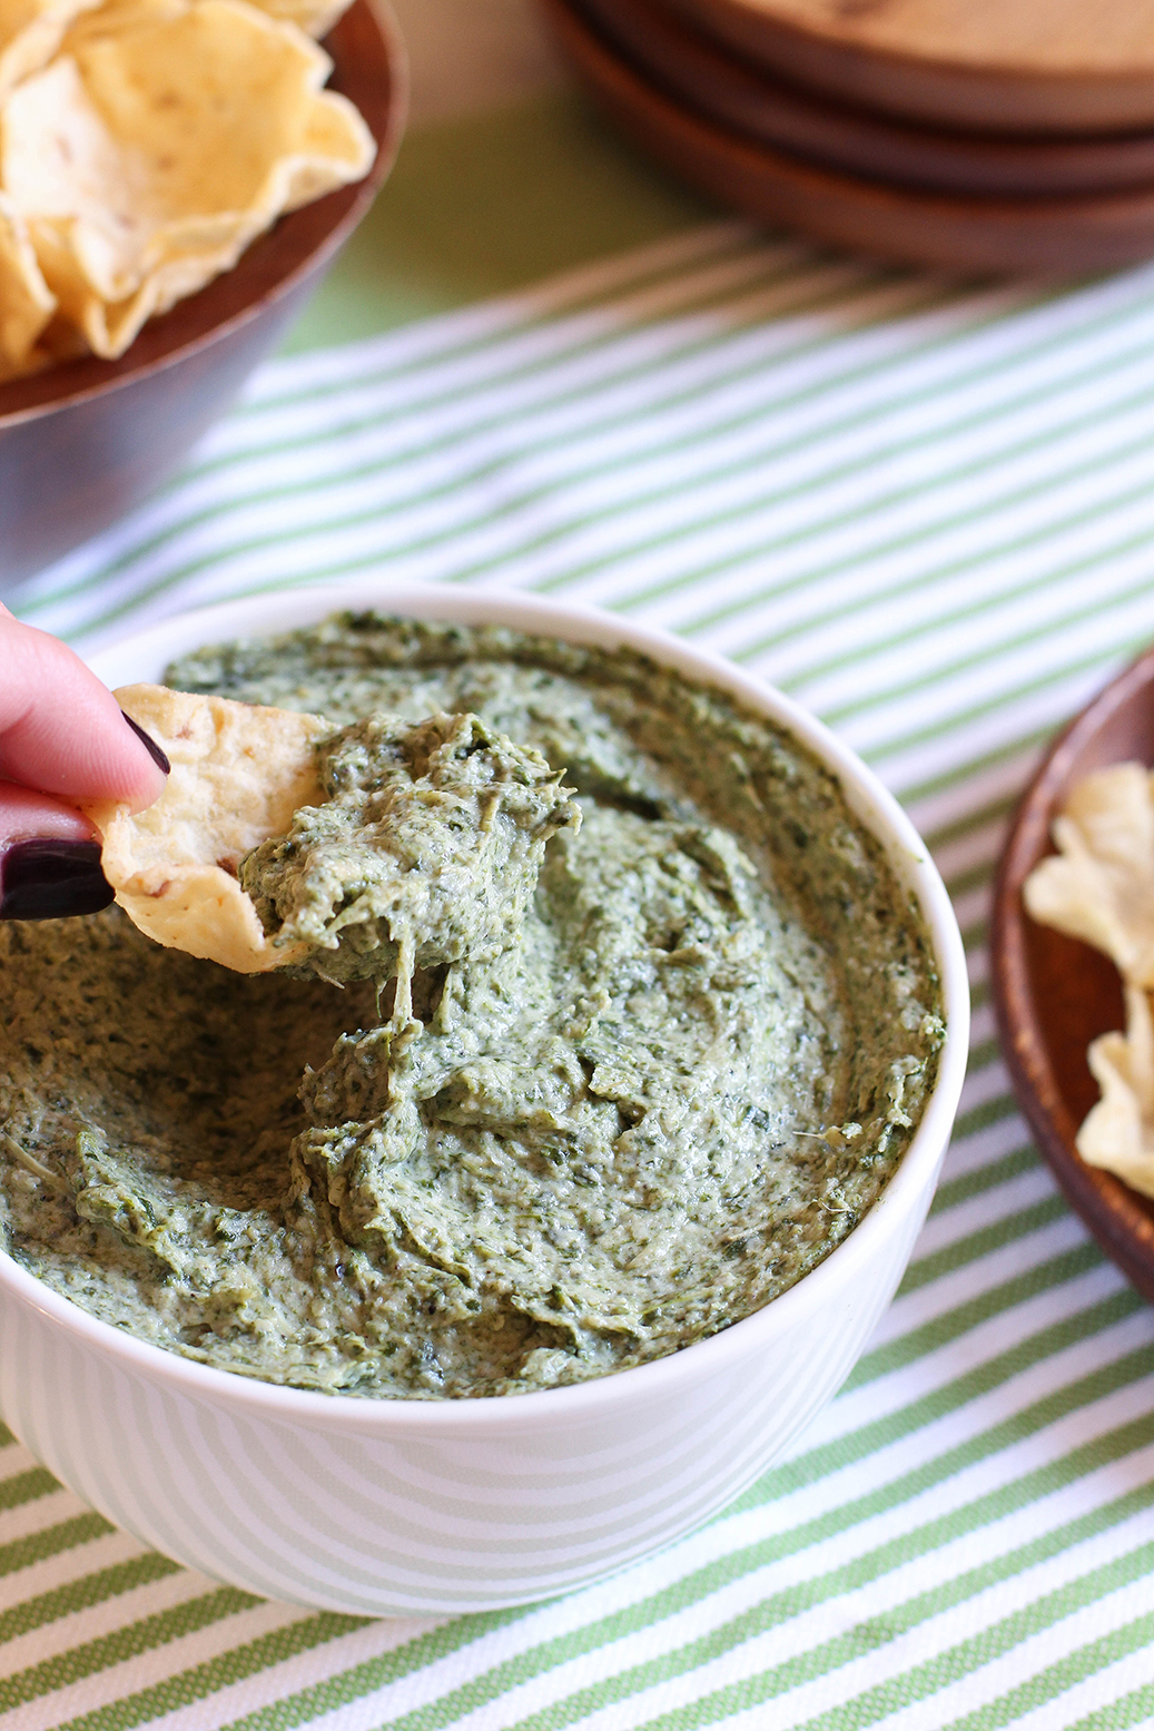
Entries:
<svg viewBox="0 0 1154 1731">
<path fill-rule="evenodd" d="M 1121 1731 L 1154 1719 L 1154 1317 L 1009 1097 L 984 921 L 1042 741 L 1154 635 L 1154 267 L 967 286 L 694 228 L 268 365 L 14 604 L 76 642 L 386 571 L 668 625 L 818 710 L 953 891 L 972 1070 L 901 1293 L 735 1508 L 462 1620 L 258 1603 L 0 1452 L 0 1731 Z"/>
</svg>

